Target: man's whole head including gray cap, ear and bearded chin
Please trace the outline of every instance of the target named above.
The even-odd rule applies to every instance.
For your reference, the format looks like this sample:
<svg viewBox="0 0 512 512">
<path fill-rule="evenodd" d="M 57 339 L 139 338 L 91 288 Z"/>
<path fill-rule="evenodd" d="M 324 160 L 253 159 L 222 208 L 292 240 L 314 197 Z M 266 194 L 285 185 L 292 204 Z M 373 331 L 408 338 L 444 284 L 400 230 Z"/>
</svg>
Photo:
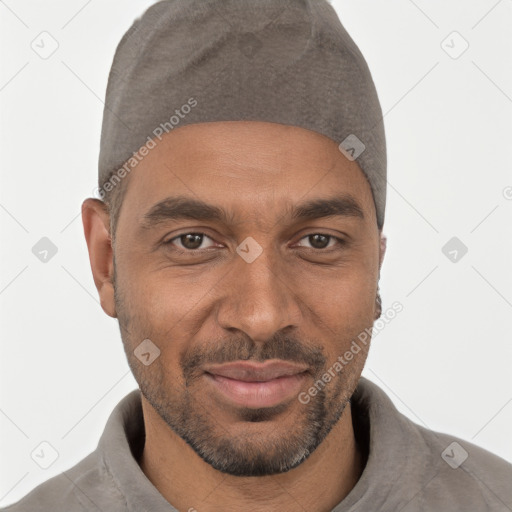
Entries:
<svg viewBox="0 0 512 512">
<path fill-rule="evenodd" d="M 82 210 L 94 280 L 144 411 L 215 469 L 288 471 L 338 424 L 369 345 L 332 368 L 380 314 L 385 178 L 375 87 L 327 1 L 163 0 L 119 43 L 110 185 Z M 271 360 L 305 373 L 267 405 L 208 372 Z"/>
</svg>

